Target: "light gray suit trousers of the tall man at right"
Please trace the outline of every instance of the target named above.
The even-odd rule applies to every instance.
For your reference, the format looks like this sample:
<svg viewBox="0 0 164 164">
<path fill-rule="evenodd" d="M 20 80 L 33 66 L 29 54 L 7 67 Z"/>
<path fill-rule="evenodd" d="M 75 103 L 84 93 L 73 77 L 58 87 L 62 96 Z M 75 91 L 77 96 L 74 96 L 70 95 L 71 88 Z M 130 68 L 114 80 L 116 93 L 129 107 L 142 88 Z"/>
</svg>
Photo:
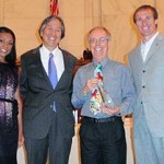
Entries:
<svg viewBox="0 0 164 164">
<path fill-rule="evenodd" d="M 140 120 L 141 121 L 133 127 L 136 163 L 164 164 L 164 138 L 157 138 L 151 134 L 144 114 L 142 114 Z"/>
</svg>

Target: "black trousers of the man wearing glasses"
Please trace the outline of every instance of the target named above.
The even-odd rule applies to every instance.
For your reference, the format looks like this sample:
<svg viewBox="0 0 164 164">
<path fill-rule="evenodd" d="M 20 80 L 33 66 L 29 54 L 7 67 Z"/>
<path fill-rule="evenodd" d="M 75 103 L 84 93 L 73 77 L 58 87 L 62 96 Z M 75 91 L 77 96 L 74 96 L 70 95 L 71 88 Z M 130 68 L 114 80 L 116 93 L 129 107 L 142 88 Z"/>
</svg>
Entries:
<svg viewBox="0 0 164 164">
<path fill-rule="evenodd" d="M 108 122 L 82 120 L 82 164 L 126 164 L 126 137 L 121 118 Z"/>
</svg>

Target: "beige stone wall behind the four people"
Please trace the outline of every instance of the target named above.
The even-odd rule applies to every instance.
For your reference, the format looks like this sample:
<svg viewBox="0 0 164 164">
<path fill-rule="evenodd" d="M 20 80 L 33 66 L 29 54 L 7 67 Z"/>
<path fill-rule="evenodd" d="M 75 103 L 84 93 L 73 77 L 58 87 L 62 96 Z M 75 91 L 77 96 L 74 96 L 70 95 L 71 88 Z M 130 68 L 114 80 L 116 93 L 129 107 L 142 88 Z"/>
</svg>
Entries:
<svg viewBox="0 0 164 164">
<path fill-rule="evenodd" d="M 0 0 L 0 25 L 11 27 L 16 34 L 17 56 L 39 45 L 37 30 L 49 14 L 50 0 Z M 66 23 L 62 48 L 78 58 L 86 48 L 85 36 L 90 28 L 106 26 L 113 36 L 109 56 L 125 62 L 125 56 L 137 44 L 137 33 L 131 16 L 134 9 L 149 3 L 157 8 L 159 30 L 164 32 L 163 0 L 58 0 L 59 15 Z"/>
</svg>

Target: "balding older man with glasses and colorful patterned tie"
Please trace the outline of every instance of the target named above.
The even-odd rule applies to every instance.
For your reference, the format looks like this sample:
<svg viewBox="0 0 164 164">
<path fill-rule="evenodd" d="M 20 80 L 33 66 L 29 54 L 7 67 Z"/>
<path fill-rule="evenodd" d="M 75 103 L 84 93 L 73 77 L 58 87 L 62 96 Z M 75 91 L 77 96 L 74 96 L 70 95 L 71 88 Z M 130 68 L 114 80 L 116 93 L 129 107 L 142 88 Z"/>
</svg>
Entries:
<svg viewBox="0 0 164 164">
<path fill-rule="evenodd" d="M 121 116 L 131 113 L 134 99 L 130 72 L 107 57 L 112 38 L 105 27 L 91 30 L 87 40 L 93 61 L 78 70 L 72 94 L 72 103 L 82 108 L 83 116 L 82 164 L 126 164 Z"/>
</svg>

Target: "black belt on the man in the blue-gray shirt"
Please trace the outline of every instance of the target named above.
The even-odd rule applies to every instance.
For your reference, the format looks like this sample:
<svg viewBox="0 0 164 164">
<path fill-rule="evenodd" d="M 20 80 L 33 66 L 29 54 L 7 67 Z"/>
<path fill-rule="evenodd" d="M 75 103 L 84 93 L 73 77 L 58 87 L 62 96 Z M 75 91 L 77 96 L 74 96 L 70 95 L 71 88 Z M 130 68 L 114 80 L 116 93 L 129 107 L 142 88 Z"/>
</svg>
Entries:
<svg viewBox="0 0 164 164">
<path fill-rule="evenodd" d="M 92 117 L 86 117 L 84 116 L 83 119 L 86 121 L 91 122 L 109 122 L 109 121 L 115 121 L 118 117 L 117 116 L 112 116 L 107 118 L 92 118 Z"/>
</svg>

